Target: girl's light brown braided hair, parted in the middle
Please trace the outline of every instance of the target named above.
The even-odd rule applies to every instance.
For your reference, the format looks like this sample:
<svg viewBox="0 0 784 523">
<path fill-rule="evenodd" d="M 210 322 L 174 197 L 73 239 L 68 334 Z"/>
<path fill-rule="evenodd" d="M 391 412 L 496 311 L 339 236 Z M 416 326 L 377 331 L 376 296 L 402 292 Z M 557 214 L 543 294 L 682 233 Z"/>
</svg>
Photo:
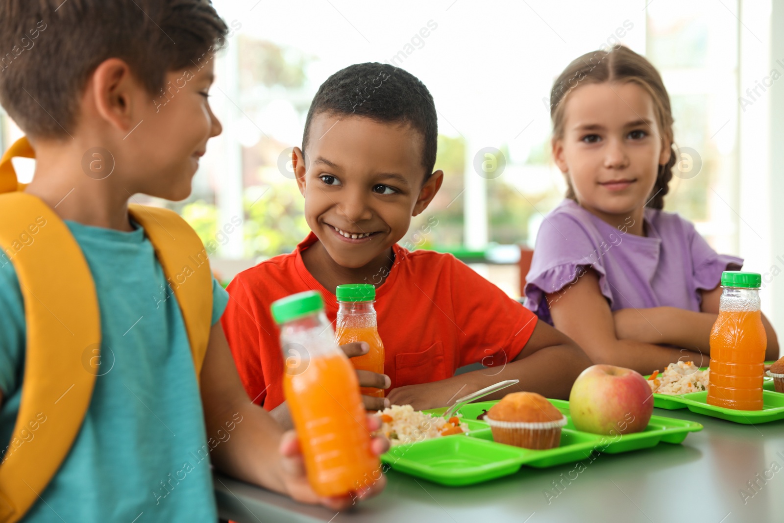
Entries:
<svg viewBox="0 0 784 523">
<path fill-rule="evenodd" d="M 677 162 L 677 154 L 673 147 L 673 114 L 670 110 L 670 96 L 662 82 L 662 77 L 655 67 L 628 47 L 614 45 L 607 51 L 599 50 L 586 53 L 574 60 L 564 69 L 553 84 L 550 91 L 550 118 L 553 120 L 553 140 L 564 136 L 564 100 L 579 85 L 600 84 L 604 82 L 634 82 L 645 89 L 653 99 L 656 120 L 662 129 L 662 140 L 665 147 L 670 146 L 670 161 L 659 165 L 656 183 L 646 207 L 662 209 L 664 195 L 669 191 L 668 185 L 673 178 L 673 166 Z M 572 183 L 566 194 L 575 200 Z"/>
</svg>

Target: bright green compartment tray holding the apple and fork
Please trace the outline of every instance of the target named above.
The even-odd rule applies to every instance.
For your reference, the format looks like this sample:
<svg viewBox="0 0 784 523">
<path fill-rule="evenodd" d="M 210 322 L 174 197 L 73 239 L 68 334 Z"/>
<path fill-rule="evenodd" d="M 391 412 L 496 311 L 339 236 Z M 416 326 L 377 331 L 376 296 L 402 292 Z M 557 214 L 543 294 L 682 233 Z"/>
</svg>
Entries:
<svg viewBox="0 0 784 523">
<path fill-rule="evenodd" d="M 561 429 L 561 445 L 556 449 L 521 449 L 492 441 L 489 425 L 477 420 L 483 409 L 497 401 L 465 405 L 458 412 L 469 426 L 468 434 L 456 434 L 408 445 L 397 445 L 381 456 L 394 470 L 424 478 L 441 485 L 474 485 L 482 481 L 514 474 L 522 465 L 555 467 L 586 459 L 591 452 L 616 454 L 658 445 L 659 442 L 681 443 L 689 432 L 702 430 L 702 425 L 683 419 L 652 416 L 648 427 L 635 434 L 611 438 L 576 430 L 569 414 L 569 402 L 550 400 L 568 418 Z M 424 411 L 440 415 L 445 409 Z"/>
</svg>

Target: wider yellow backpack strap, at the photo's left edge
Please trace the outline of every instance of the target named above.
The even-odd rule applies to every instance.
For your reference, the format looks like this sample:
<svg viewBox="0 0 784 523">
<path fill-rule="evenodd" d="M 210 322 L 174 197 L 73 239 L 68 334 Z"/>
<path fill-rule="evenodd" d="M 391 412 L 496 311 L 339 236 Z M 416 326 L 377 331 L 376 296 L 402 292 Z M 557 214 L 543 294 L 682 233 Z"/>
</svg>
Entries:
<svg viewBox="0 0 784 523">
<path fill-rule="evenodd" d="M 10 260 L 19 278 L 27 322 L 23 394 L 0 465 L 0 521 L 13 523 L 42 495 L 82 427 L 98 373 L 90 351 L 100 347 L 100 313 L 82 250 L 42 200 L 0 194 L 0 245 L 0 263 Z"/>
</svg>

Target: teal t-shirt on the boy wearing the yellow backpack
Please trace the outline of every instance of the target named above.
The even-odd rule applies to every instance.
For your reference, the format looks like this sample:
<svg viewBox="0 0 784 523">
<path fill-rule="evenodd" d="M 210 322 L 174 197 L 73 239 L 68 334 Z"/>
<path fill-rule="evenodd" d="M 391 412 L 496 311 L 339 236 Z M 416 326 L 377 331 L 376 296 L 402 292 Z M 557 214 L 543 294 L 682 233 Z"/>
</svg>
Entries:
<svg viewBox="0 0 784 523">
<path fill-rule="evenodd" d="M 71 452 L 23 521 L 215 523 L 209 447 L 191 349 L 152 244 L 140 227 L 122 232 L 66 223 L 96 284 L 100 368 Z M 228 301 L 214 279 L 212 295 L 214 324 Z M 0 257 L 3 456 L 19 411 L 24 349 L 19 281 L 13 264 Z M 31 434 L 21 445 L 36 444 Z"/>
</svg>

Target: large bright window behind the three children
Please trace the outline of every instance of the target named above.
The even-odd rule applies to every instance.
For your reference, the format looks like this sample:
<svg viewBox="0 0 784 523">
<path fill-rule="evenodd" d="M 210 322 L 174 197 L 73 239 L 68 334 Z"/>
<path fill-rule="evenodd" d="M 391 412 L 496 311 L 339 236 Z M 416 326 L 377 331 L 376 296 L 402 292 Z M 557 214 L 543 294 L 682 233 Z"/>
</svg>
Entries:
<svg viewBox="0 0 784 523">
<path fill-rule="evenodd" d="M 768 154 L 764 141 L 753 143 L 753 153 L 743 149 L 744 129 L 756 125 L 749 114 L 764 114 L 766 102 L 742 111 L 739 97 L 767 71 L 768 55 L 760 49 L 770 41 L 769 29 L 755 24 L 750 34 L 739 17 L 764 20 L 764 9 L 743 10 L 737 0 L 715 9 L 676 0 L 604 0 L 572 5 L 564 16 L 561 4 L 543 0 L 351 1 L 317 2 L 292 16 L 288 2 L 214 3 L 231 30 L 216 62 L 211 99 L 223 135 L 210 141 L 191 197 L 158 203 L 177 209 L 201 238 L 216 242 L 212 257 L 224 279 L 290 252 L 307 234 L 287 153 L 301 144 L 318 85 L 363 61 L 416 74 L 439 114 L 436 166 L 445 171 L 445 182 L 403 242 L 437 249 L 533 245 L 543 216 L 565 191 L 550 159 L 552 82 L 576 56 L 616 42 L 659 68 L 672 100 L 677 145 L 692 151 L 681 161 L 684 168 L 692 162 L 696 174 L 673 179 L 666 210 L 695 222 L 723 252 L 748 256 L 755 244 L 743 238 L 756 241 L 757 227 L 757 236 L 768 238 L 767 208 L 757 210 L 739 195 L 740 173 L 750 169 L 743 165 L 757 165 L 753 158 Z M 749 42 L 743 54 L 741 42 Z M 743 64 L 752 65 L 743 70 Z M 4 148 L 20 136 L 3 116 L 0 129 Z M 487 157 L 488 150 L 498 152 Z M 483 162 L 503 169 L 481 176 L 476 165 Z M 432 216 L 438 224 L 423 234 L 420 227 Z M 751 231 L 746 226 L 752 222 L 761 224 Z M 496 282 L 516 292 L 514 281 Z"/>
</svg>

